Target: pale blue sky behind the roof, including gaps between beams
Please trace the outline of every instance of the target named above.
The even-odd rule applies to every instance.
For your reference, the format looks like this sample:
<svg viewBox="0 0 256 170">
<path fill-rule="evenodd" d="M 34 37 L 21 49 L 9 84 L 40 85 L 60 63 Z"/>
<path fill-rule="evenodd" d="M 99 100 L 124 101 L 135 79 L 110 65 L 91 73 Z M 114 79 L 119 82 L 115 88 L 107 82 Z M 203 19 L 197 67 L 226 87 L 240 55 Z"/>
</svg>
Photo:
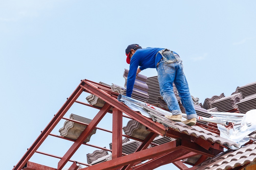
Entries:
<svg viewBox="0 0 256 170">
<path fill-rule="evenodd" d="M 255 1 L 1 1 L 1 161 L 20 160 L 81 79 L 124 85 L 125 48 L 163 47 L 183 59 L 190 93 L 200 102 L 255 82 Z M 157 75 L 155 69 L 141 74 Z M 80 96 L 86 101 L 89 94 Z M 98 111 L 75 104 L 71 113 Z M 112 129 L 111 115 L 99 126 Z M 61 121 L 52 131 L 59 135 Z M 127 120 L 124 120 L 126 125 Z M 104 140 L 103 140 L 104 139 Z M 109 148 L 111 135 L 97 131 L 89 143 Z M 38 149 L 63 156 L 72 142 L 48 137 Z M 95 149 L 72 157 L 86 161 Z M 31 161 L 56 167 L 58 159 Z M 66 167 L 68 167 L 67 164 Z M 165 165 L 157 169 L 173 168 Z"/>
</svg>

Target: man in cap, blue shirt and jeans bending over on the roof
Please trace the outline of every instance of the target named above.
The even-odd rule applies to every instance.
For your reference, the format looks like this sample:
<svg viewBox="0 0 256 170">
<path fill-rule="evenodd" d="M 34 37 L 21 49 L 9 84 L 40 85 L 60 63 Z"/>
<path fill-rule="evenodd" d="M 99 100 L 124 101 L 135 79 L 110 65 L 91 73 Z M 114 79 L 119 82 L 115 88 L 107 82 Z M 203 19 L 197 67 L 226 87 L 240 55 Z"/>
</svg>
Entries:
<svg viewBox="0 0 256 170">
<path fill-rule="evenodd" d="M 179 55 L 168 49 L 142 48 L 138 44 L 129 45 L 125 50 L 125 54 L 127 56 L 126 62 L 130 64 L 126 96 L 131 97 L 134 81 L 139 72 L 146 68 L 156 68 L 160 94 L 172 112 L 172 116 L 165 117 L 176 122 L 182 121 L 182 113 L 173 92 L 174 82 L 187 114 L 187 119 L 183 123 L 189 126 L 195 125 L 197 114 Z M 138 66 L 140 67 L 138 68 Z"/>
</svg>

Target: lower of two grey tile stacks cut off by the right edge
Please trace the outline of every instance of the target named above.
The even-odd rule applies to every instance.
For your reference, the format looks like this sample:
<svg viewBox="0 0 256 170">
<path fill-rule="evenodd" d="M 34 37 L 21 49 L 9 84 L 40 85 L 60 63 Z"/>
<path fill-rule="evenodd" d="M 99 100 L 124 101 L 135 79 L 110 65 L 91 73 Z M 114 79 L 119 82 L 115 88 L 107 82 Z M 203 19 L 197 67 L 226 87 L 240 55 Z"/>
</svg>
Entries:
<svg viewBox="0 0 256 170">
<path fill-rule="evenodd" d="M 247 96 L 236 103 L 240 113 L 246 113 L 249 110 L 256 109 L 256 94 Z"/>
</svg>

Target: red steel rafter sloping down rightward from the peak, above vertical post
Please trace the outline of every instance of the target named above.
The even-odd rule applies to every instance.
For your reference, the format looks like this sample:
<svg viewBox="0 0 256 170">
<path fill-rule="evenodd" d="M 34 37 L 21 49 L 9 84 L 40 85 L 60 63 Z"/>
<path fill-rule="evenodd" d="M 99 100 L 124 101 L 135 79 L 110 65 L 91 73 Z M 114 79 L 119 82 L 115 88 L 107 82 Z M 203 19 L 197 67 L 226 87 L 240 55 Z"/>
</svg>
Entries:
<svg viewBox="0 0 256 170">
<path fill-rule="evenodd" d="M 109 103 L 110 105 L 114 106 L 121 112 L 134 118 L 135 120 L 137 120 L 144 126 L 148 127 L 149 129 L 152 129 L 155 133 L 158 133 L 161 136 L 165 136 L 165 134 L 167 132 L 167 128 L 164 125 L 159 124 L 157 122 L 153 122 L 152 120 L 145 118 L 140 113 L 131 110 L 128 106 L 119 102 L 117 99 L 111 97 L 108 93 L 106 93 L 102 90 L 99 90 L 97 87 L 93 86 L 90 82 L 87 82 L 85 80 L 83 80 L 83 82 L 85 84 L 84 84 L 84 86 L 81 85 L 81 87 L 84 88 L 85 90 L 89 91 L 91 94 L 98 96 L 100 99 L 102 99 L 106 103 Z"/>
</svg>

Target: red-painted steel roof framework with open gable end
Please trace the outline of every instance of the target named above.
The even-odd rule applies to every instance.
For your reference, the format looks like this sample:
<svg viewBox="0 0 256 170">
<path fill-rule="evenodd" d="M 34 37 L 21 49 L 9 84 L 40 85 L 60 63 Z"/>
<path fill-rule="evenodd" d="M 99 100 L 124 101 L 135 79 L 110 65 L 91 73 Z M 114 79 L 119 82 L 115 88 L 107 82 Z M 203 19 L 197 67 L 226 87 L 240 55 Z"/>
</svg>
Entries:
<svg viewBox="0 0 256 170">
<path fill-rule="evenodd" d="M 98 96 L 100 99 L 106 102 L 105 105 L 102 108 L 99 108 L 87 103 L 77 101 L 78 97 L 82 94 L 82 92 L 88 92 Z M 21 170 L 21 169 L 61 170 L 68 161 L 73 162 L 69 170 L 78 169 L 77 163 L 87 166 L 85 168 L 82 168 L 83 170 L 87 170 L 87 169 L 88 170 L 89 169 L 93 169 L 93 170 L 155 169 L 159 166 L 169 164 L 169 163 L 173 163 L 179 169 L 187 169 L 188 167 L 180 160 L 201 154 L 202 156 L 195 163 L 195 165 L 198 165 L 201 162 L 205 161 L 207 157 L 213 157 L 223 151 L 223 146 L 217 143 L 212 143 L 211 141 L 206 141 L 202 138 L 196 138 L 194 136 L 190 136 L 185 133 L 175 131 L 171 128 L 163 126 L 158 122 L 154 122 L 152 119 L 147 118 L 138 112 L 131 110 L 125 104 L 117 100 L 118 95 L 119 95 L 118 93 L 112 92 L 110 87 L 108 86 L 105 86 L 103 84 L 99 84 L 90 80 L 81 80 L 81 83 L 78 85 L 78 87 L 70 95 L 70 97 L 63 104 L 60 110 L 55 114 L 55 116 L 52 118 L 52 120 L 46 126 L 46 128 L 40 133 L 40 135 L 35 140 L 35 142 L 31 145 L 31 147 L 28 148 L 27 152 L 20 159 L 17 165 L 14 166 L 13 170 Z M 63 117 L 75 102 L 99 109 L 99 112 L 89 124 L 81 123 L 79 121 Z M 112 112 L 109 111 L 111 107 L 113 108 Z M 112 131 L 97 127 L 98 123 L 105 116 L 107 112 L 112 113 L 112 120 L 113 120 Z M 123 113 L 125 113 L 126 115 L 123 115 Z M 145 140 L 123 135 L 122 134 L 123 117 L 131 118 L 138 121 L 139 123 L 146 126 L 147 130 L 150 131 L 151 133 L 146 137 Z M 87 127 L 84 129 L 84 131 L 81 133 L 81 135 L 78 137 L 77 140 L 68 139 L 55 134 L 51 134 L 51 131 L 56 127 L 56 125 L 59 123 L 61 119 L 83 124 L 83 125 L 86 125 Z M 84 143 L 84 140 L 89 136 L 89 134 L 92 132 L 94 128 L 112 133 L 112 150 L 95 146 L 92 144 Z M 38 151 L 38 148 L 40 147 L 40 145 L 44 142 L 44 140 L 49 135 L 72 141 L 73 144 L 62 157 Z M 157 135 L 172 137 L 172 138 L 175 138 L 176 140 L 167 142 L 161 145 L 152 143 L 153 139 Z M 134 153 L 127 155 L 125 153 L 122 153 L 122 136 L 133 139 L 133 140 L 141 141 L 142 143 Z M 112 152 L 112 160 L 95 164 L 95 165 L 89 165 L 86 163 L 70 160 L 70 158 L 79 149 L 79 147 L 82 144 Z M 147 147 L 150 144 L 153 144 L 155 146 L 147 149 Z M 40 154 L 44 154 L 47 156 L 60 159 L 60 161 L 58 162 L 58 165 L 56 165 L 57 168 L 52 168 L 45 165 L 29 162 L 29 159 L 34 155 L 34 153 L 40 153 Z M 138 163 L 141 163 L 144 160 L 148 160 L 148 161 L 141 165 L 137 165 Z"/>
</svg>

